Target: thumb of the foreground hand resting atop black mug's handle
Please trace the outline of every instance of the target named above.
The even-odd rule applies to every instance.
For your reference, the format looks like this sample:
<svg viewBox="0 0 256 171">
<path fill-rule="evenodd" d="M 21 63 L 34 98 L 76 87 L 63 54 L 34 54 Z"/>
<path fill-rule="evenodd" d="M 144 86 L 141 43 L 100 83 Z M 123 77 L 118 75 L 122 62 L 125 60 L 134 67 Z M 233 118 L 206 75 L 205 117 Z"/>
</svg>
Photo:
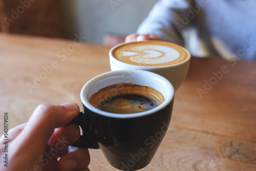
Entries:
<svg viewBox="0 0 256 171">
<path fill-rule="evenodd" d="M 42 154 L 48 139 L 55 127 L 68 124 L 79 113 L 79 106 L 75 103 L 62 105 L 41 104 L 33 112 L 25 129 L 18 135 L 13 151 L 34 156 L 34 152 Z M 26 149 L 29 149 L 26 151 Z"/>
</svg>

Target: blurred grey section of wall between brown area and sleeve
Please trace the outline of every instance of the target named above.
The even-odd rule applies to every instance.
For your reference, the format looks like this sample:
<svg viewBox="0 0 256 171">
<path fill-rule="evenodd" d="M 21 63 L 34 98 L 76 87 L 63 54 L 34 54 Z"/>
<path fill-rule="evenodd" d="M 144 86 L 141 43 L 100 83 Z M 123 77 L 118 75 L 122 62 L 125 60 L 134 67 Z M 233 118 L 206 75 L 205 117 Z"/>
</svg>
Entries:
<svg viewBox="0 0 256 171">
<path fill-rule="evenodd" d="M 102 44 L 105 34 L 136 32 L 157 0 L 61 0 L 66 36 Z"/>
</svg>

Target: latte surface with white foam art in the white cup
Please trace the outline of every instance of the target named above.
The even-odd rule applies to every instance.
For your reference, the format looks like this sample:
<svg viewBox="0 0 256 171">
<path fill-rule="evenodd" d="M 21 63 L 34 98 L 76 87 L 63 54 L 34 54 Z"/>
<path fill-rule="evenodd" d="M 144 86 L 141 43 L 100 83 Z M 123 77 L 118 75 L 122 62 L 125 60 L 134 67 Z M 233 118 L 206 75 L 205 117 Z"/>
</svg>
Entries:
<svg viewBox="0 0 256 171">
<path fill-rule="evenodd" d="M 120 45 L 112 55 L 125 63 L 136 66 L 161 67 L 185 61 L 188 51 L 165 41 L 138 41 Z"/>
</svg>

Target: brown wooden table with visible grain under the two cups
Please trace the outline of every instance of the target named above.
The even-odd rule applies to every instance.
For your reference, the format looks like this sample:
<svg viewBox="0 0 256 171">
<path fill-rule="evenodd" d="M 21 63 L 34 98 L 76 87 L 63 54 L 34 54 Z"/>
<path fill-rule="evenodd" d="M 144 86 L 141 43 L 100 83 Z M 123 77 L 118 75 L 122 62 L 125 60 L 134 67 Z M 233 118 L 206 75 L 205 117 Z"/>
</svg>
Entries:
<svg viewBox="0 0 256 171">
<path fill-rule="evenodd" d="M 83 84 L 110 71 L 109 50 L 73 40 L 0 34 L 1 117 L 8 112 L 13 127 L 26 122 L 40 103 L 82 106 Z M 255 131 L 256 62 L 192 58 L 175 95 L 167 135 L 141 170 L 256 170 Z M 92 171 L 117 170 L 100 150 L 90 153 Z"/>
</svg>

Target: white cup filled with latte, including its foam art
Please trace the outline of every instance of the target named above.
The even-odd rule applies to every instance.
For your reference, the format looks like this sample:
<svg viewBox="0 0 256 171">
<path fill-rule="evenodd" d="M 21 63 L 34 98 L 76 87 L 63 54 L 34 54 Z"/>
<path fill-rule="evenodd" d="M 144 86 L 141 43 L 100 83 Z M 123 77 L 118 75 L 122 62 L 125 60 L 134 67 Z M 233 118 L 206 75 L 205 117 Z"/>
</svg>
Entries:
<svg viewBox="0 0 256 171">
<path fill-rule="evenodd" d="M 165 41 L 122 43 L 110 50 L 109 57 L 111 71 L 154 72 L 169 80 L 175 91 L 184 81 L 190 62 L 190 54 L 185 48 Z M 121 61 L 121 58 L 128 59 L 128 61 Z"/>
</svg>

